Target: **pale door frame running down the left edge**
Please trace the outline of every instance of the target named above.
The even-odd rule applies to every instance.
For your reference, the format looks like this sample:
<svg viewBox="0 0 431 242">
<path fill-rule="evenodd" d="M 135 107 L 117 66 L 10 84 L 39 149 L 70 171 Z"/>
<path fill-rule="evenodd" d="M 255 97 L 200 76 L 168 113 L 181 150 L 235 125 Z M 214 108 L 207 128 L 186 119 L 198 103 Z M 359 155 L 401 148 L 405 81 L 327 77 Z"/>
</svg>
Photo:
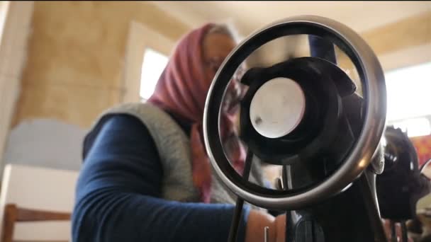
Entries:
<svg viewBox="0 0 431 242">
<path fill-rule="evenodd" d="M 0 177 L 26 64 L 33 1 L 4 1 L 0 16 Z"/>
</svg>

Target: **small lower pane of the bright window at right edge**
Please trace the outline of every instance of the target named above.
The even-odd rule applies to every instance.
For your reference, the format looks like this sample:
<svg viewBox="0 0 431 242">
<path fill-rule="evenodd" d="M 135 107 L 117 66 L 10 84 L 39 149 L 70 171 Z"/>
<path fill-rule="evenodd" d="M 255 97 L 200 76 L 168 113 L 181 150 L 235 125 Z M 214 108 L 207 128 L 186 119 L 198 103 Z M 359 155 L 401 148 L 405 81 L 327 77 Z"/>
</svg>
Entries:
<svg viewBox="0 0 431 242">
<path fill-rule="evenodd" d="M 425 117 L 393 122 L 393 127 L 400 128 L 403 132 L 407 132 L 408 137 L 431 134 L 430 120 Z"/>
</svg>

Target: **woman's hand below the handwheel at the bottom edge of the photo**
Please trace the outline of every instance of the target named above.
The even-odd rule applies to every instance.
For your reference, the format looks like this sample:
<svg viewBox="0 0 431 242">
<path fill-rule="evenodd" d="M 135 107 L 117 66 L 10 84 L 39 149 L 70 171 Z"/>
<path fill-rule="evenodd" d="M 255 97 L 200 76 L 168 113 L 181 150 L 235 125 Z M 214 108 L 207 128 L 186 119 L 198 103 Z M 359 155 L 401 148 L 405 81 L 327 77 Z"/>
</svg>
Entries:
<svg viewBox="0 0 431 242">
<path fill-rule="evenodd" d="M 269 242 L 284 242 L 286 215 L 273 217 L 266 212 L 252 210 L 247 221 L 245 242 L 264 242 L 264 228 L 269 227 Z"/>
</svg>

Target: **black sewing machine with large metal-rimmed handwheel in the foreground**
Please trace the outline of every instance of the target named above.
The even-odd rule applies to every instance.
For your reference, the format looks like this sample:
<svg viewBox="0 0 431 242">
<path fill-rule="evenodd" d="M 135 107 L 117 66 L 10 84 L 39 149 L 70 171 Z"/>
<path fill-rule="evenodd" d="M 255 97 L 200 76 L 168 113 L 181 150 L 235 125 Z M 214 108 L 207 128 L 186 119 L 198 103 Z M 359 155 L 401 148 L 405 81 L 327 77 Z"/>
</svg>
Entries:
<svg viewBox="0 0 431 242">
<path fill-rule="evenodd" d="M 325 52 L 249 69 L 241 82 L 240 135 L 245 171 L 230 165 L 220 142 L 220 107 L 237 67 L 265 43 L 310 35 Z M 337 67 L 333 45 L 352 60 L 362 96 Z M 376 175 L 384 167 L 381 137 L 386 118 L 384 74 L 371 48 L 341 23 L 298 16 L 273 23 L 244 40 L 216 74 L 203 119 L 208 156 L 220 180 L 237 195 L 229 241 L 236 241 L 244 202 L 287 212 L 286 241 L 387 241 L 381 223 Z M 283 186 L 248 180 L 253 157 L 281 166 Z M 379 197 L 380 199 L 380 197 Z"/>
</svg>

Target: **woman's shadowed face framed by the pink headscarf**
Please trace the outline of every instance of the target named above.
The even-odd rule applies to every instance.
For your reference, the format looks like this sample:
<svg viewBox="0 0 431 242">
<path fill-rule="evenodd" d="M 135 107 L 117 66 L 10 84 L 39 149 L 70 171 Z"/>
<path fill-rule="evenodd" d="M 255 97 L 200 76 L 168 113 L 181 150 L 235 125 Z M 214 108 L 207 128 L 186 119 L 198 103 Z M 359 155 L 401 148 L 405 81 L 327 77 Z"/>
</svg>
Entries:
<svg viewBox="0 0 431 242">
<path fill-rule="evenodd" d="M 211 74 L 211 79 L 234 47 L 235 41 L 228 35 L 222 33 L 206 35 L 203 40 L 203 61 L 206 73 Z"/>
</svg>

